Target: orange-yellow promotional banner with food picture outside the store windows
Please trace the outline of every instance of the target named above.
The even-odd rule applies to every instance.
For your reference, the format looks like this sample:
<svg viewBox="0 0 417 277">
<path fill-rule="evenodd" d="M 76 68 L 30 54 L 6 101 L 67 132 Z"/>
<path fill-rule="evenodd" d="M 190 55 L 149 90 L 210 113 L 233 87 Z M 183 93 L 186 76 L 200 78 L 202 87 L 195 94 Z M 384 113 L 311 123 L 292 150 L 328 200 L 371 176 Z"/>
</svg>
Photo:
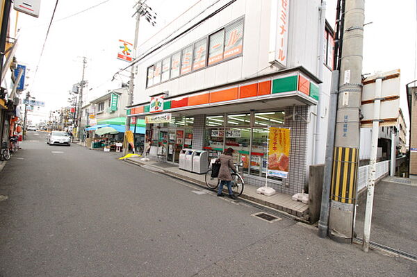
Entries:
<svg viewBox="0 0 417 277">
<path fill-rule="evenodd" d="M 287 178 L 290 163 L 290 129 L 270 127 L 268 145 L 268 176 Z"/>
</svg>

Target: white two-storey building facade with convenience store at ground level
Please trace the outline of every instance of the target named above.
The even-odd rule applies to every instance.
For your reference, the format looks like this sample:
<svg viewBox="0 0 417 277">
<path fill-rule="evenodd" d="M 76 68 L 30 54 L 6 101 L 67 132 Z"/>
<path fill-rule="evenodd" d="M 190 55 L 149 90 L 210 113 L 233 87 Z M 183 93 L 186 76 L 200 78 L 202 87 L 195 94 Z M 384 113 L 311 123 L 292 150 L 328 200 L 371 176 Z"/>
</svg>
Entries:
<svg viewBox="0 0 417 277">
<path fill-rule="evenodd" d="M 329 74 L 322 80 L 316 74 L 320 32 L 311 21 L 318 22 L 318 5 L 320 1 L 220 1 L 206 9 L 199 3 L 142 44 L 139 53 L 193 12 L 210 14 L 138 62 L 136 103 L 127 107 L 127 115 L 145 119 L 150 155 L 176 163 L 184 148 L 204 149 L 216 157 L 231 147 L 246 181 L 261 186 L 268 127 L 289 128 L 288 178 L 268 176 L 268 183 L 280 192 L 301 192 L 312 164 L 320 87 L 329 90 L 330 83 Z M 311 12 L 307 18 L 306 10 Z M 304 33 L 297 32 L 304 27 Z M 328 94 L 323 96 L 327 105 Z M 327 128 L 327 118 L 322 120 Z"/>
</svg>

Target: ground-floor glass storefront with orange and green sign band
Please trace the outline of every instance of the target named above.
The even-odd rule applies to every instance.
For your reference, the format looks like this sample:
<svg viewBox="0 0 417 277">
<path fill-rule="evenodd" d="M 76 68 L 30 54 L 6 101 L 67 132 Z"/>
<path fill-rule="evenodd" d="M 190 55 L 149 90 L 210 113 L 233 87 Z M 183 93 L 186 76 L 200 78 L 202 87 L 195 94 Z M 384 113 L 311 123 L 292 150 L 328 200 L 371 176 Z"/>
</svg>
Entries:
<svg viewBox="0 0 417 277">
<path fill-rule="evenodd" d="M 272 187 L 291 194 L 301 191 L 306 182 L 309 113 L 318 103 L 319 83 L 306 69 L 297 67 L 175 96 L 168 90 L 147 103 L 128 107 L 127 115 L 158 122 L 146 127 L 151 156 L 177 163 L 184 148 L 204 149 L 214 158 L 231 147 L 234 162 L 242 163 L 246 181 L 254 185 L 265 182 L 268 127 L 290 128 L 288 178 L 268 178 Z"/>
</svg>

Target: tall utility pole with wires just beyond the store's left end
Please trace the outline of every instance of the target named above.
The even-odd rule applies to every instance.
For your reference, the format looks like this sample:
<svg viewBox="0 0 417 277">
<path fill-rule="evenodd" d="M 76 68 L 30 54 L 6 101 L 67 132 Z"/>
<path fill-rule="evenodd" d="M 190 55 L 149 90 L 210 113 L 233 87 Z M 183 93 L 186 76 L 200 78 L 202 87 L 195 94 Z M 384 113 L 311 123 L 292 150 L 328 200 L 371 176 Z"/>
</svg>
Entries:
<svg viewBox="0 0 417 277">
<path fill-rule="evenodd" d="M 133 59 L 132 62 L 135 60 L 137 53 L 136 53 L 136 49 L 138 47 L 138 33 L 139 33 L 139 22 L 140 22 L 140 17 L 143 16 L 145 17 L 145 19 L 147 20 L 147 22 L 149 22 L 150 24 L 152 24 L 152 26 L 155 26 L 155 19 L 156 19 L 156 13 L 152 12 L 152 8 L 150 8 L 149 6 L 147 6 L 147 4 L 145 4 L 146 0 L 139 0 L 138 2 L 136 2 L 135 6 L 133 6 L 133 8 L 136 8 L 135 13 L 133 14 L 133 16 L 136 15 L 136 28 L 135 28 L 135 40 L 133 41 Z M 133 105 L 133 89 L 134 89 L 134 82 L 135 82 L 135 69 L 134 66 L 131 66 L 131 76 L 130 76 L 130 81 L 129 81 L 129 93 L 128 93 L 128 98 L 127 98 L 127 106 L 132 106 Z M 131 118 L 128 117 L 126 115 L 126 126 L 124 128 L 124 134 L 126 134 L 127 131 L 130 131 L 130 125 L 131 125 Z M 133 133 L 133 146 L 135 145 L 135 138 L 134 138 L 134 133 Z M 129 152 L 129 143 L 126 140 L 126 135 L 124 136 L 124 155 L 126 155 Z M 133 147 L 133 151 L 134 151 L 134 147 Z"/>
</svg>

